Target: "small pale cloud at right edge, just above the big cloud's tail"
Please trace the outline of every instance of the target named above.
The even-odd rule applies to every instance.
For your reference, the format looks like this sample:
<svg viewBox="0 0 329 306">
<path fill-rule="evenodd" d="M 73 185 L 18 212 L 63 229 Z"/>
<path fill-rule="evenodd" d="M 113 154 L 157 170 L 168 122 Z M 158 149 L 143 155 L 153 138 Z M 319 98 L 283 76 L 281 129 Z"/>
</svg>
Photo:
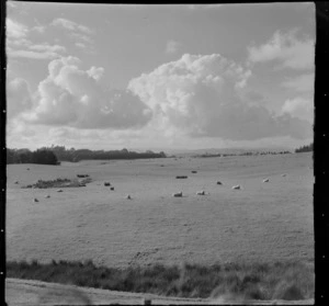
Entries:
<svg viewBox="0 0 329 306">
<path fill-rule="evenodd" d="M 282 106 L 282 113 L 290 114 L 294 117 L 314 121 L 314 103 L 311 100 L 302 97 L 288 99 Z"/>
</svg>

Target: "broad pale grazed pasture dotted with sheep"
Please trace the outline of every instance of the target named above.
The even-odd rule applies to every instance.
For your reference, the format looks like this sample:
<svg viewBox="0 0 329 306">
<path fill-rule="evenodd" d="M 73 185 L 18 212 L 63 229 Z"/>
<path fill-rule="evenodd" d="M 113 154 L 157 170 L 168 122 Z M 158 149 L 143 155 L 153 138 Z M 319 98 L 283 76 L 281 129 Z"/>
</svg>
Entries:
<svg viewBox="0 0 329 306">
<path fill-rule="evenodd" d="M 92 259 L 115 268 L 314 260 L 311 154 L 7 169 L 7 260 Z M 61 193 L 21 189 L 78 173 L 93 181 Z M 196 195 L 201 190 L 206 195 Z M 183 197 L 172 197 L 179 191 Z"/>
</svg>

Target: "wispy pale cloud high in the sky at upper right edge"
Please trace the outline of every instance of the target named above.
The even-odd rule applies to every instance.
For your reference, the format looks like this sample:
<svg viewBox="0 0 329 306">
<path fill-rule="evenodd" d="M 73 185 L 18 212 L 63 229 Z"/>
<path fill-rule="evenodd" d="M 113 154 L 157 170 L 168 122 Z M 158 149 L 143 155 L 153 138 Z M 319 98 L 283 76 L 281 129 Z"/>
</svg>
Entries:
<svg viewBox="0 0 329 306">
<path fill-rule="evenodd" d="M 310 38 L 298 39 L 297 31 L 275 32 L 272 38 L 261 46 L 248 47 L 251 63 L 277 60 L 281 68 L 309 69 L 314 67 L 315 46 Z"/>
</svg>

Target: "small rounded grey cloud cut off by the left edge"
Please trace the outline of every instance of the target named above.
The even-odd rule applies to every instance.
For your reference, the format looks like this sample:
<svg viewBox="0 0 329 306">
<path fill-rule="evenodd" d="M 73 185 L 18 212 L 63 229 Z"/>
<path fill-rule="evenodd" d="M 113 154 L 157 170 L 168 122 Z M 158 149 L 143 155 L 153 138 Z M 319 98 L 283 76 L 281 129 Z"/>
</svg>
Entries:
<svg viewBox="0 0 329 306">
<path fill-rule="evenodd" d="M 13 118 L 32 107 L 29 83 L 24 79 L 8 80 L 5 93 L 8 118 Z"/>
</svg>

